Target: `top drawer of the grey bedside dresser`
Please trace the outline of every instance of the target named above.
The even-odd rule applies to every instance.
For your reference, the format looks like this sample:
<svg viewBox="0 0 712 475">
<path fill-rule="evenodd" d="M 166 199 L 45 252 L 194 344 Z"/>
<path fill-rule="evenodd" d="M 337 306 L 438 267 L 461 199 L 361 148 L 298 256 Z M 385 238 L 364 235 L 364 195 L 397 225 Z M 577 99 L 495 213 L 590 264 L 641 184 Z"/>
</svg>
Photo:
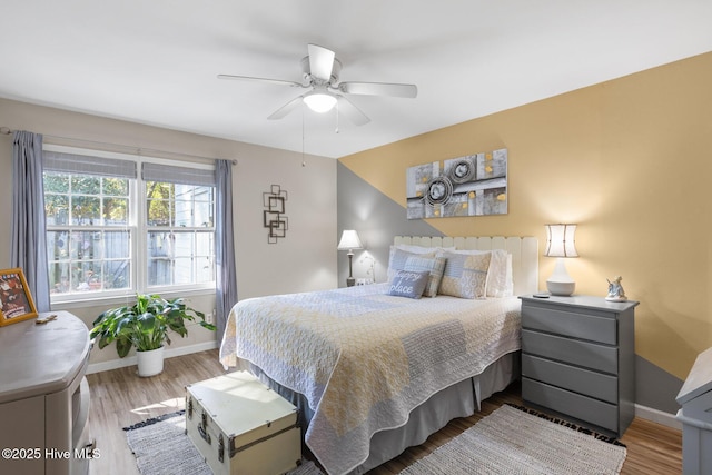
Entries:
<svg viewBox="0 0 712 475">
<path fill-rule="evenodd" d="M 592 342 L 617 344 L 617 321 L 610 316 L 596 316 L 571 310 L 534 307 L 522 308 L 522 326 Z"/>
</svg>

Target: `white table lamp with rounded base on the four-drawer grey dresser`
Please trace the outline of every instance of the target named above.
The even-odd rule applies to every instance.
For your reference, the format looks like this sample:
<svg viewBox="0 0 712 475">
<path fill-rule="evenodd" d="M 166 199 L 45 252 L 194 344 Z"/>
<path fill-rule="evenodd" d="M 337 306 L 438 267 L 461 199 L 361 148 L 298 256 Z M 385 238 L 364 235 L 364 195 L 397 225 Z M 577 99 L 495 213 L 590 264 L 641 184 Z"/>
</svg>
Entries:
<svg viewBox="0 0 712 475">
<path fill-rule="evenodd" d="M 555 257 L 554 273 L 546 280 L 546 289 L 552 295 L 570 296 L 576 283 L 566 271 L 564 259 L 578 257 L 575 239 L 576 225 L 546 225 L 546 250 L 544 256 Z"/>
</svg>

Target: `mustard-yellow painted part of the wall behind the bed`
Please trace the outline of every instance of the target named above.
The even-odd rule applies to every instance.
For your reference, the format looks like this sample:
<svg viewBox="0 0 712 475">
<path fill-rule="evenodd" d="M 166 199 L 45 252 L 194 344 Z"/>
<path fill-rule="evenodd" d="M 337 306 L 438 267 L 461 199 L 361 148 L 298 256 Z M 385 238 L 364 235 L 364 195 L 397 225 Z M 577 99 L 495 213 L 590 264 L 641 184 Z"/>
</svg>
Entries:
<svg viewBox="0 0 712 475">
<path fill-rule="evenodd" d="M 641 301 L 636 353 L 686 378 L 712 346 L 712 52 L 340 162 L 405 219 L 406 168 L 497 148 L 508 150 L 508 214 L 427 222 L 447 236 L 536 236 L 540 249 L 545 224 L 577 224 L 581 257 L 566 260 L 576 293 L 605 296 L 606 278 L 622 276 Z M 554 259 L 540 266 L 545 289 Z"/>
</svg>

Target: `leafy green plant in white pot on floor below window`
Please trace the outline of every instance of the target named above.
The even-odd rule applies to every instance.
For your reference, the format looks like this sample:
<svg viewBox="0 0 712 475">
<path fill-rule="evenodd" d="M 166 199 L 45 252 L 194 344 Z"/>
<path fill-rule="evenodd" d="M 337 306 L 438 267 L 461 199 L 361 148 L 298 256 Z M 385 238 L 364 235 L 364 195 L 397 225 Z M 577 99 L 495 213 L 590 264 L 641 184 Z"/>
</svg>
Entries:
<svg viewBox="0 0 712 475">
<path fill-rule="evenodd" d="M 137 294 L 134 305 L 99 315 L 89 335 L 98 338 L 99 348 L 116 342 L 120 358 L 135 346 L 139 376 L 154 376 L 164 370 L 164 343 L 170 345 L 169 331 L 181 337 L 188 335 L 186 320 L 197 320 L 204 328 L 216 329 L 206 321 L 205 314 L 186 306 L 182 298 L 168 300 L 158 295 Z"/>
</svg>

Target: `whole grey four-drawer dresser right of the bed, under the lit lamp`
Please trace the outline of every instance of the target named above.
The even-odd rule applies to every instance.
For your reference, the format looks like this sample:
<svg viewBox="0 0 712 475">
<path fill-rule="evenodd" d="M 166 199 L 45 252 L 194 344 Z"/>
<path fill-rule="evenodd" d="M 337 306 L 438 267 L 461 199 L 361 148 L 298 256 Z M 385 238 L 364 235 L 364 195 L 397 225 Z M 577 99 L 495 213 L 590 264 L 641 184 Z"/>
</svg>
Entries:
<svg viewBox="0 0 712 475">
<path fill-rule="evenodd" d="M 637 301 L 522 297 L 522 399 L 621 437 L 635 416 Z"/>
</svg>

